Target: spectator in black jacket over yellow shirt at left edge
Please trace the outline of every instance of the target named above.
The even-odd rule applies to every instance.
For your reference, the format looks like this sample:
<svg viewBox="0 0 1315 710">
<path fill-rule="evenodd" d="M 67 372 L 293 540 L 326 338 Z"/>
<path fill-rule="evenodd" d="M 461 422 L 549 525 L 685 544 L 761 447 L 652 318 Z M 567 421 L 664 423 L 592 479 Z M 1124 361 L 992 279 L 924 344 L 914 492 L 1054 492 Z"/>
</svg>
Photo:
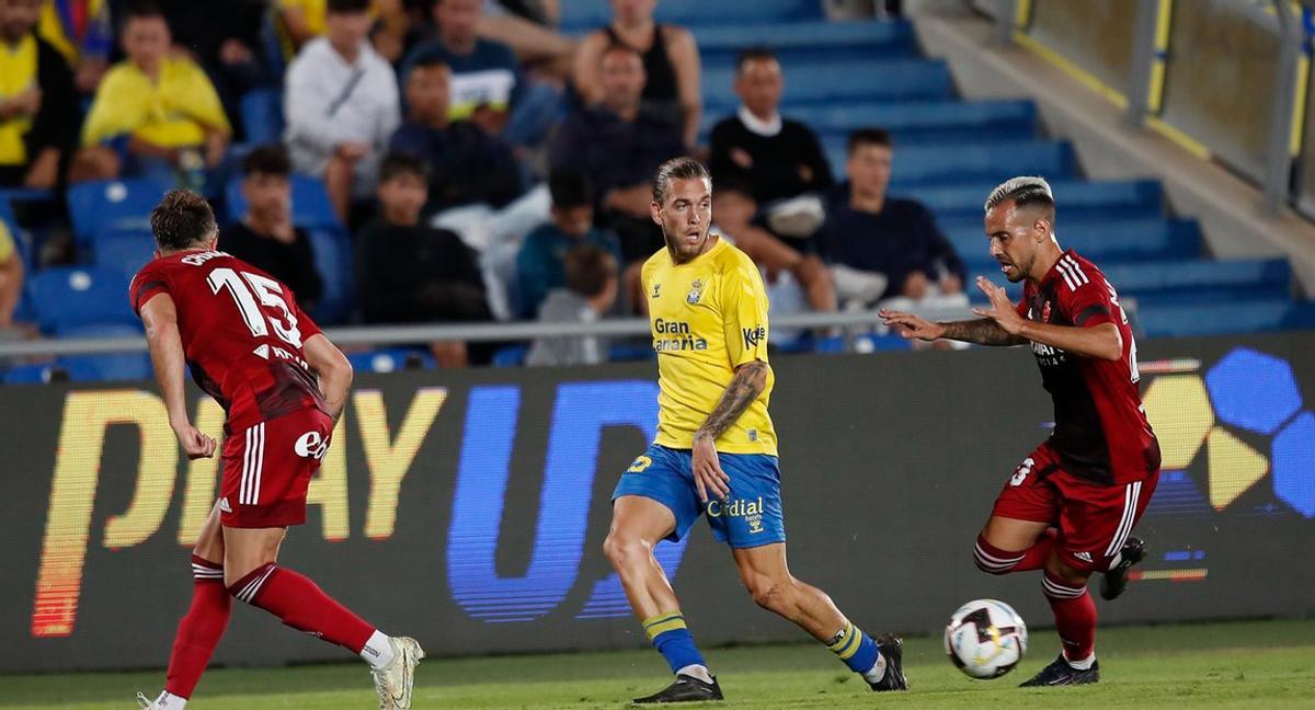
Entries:
<svg viewBox="0 0 1315 710">
<path fill-rule="evenodd" d="M 78 141 L 64 58 L 33 29 L 41 0 L 0 0 L 0 187 L 50 189 Z"/>
</svg>

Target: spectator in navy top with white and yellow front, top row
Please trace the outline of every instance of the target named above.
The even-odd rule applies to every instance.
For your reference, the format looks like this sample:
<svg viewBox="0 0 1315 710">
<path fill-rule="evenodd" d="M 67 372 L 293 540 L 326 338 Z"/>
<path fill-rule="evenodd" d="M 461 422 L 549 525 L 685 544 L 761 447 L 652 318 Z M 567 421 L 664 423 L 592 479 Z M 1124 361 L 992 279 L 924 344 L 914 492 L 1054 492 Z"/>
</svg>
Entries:
<svg viewBox="0 0 1315 710">
<path fill-rule="evenodd" d="M 540 143 L 562 112 L 560 92 L 530 82 L 512 47 L 479 37 L 481 4 L 438 0 L 438 37 L 412 50 L 402 66 L 402 80 L 422 59 L 438 58 L 452 70 L 452 120 L 469 120 L 513 146 Z"/>
</svg>

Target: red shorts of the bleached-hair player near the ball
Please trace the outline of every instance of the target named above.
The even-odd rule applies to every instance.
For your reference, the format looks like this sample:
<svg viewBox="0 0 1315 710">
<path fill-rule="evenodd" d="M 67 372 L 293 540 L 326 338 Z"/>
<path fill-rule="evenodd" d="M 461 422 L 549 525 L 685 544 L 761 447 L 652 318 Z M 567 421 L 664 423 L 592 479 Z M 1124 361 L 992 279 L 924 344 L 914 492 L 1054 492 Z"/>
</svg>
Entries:
<svg viewBox="0 0 1315 710">
<path fill-rule="evenodd" d="M 1160 472 L 1123 485 L 1098 485 L 1064 471 L 1049 442 L 1019 464 L 992 515 L 1049 523 L 1055 550 L 1074 569 L 1105 571 L 1155 494 Z"/>
</svg>

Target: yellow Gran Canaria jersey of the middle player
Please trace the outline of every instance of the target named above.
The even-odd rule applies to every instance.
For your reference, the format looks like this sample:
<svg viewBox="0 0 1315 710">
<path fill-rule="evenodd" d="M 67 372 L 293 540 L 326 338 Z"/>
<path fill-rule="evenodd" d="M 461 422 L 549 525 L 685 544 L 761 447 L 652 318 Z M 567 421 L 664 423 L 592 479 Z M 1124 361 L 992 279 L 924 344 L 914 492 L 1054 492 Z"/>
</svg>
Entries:
<svg viewBox="0 0 1315 710">
<path fill-rule="evenodd" d="M 692 262 L 677 264 L 663 248 L 644 262 L 644 298 L 658 352 L 658 438 L 669 448 L 693 448 L 702 426 L 731 384 L 735 368 L 767 362 L 767 289 L 757 266 L 725 239 Z M 717 439 L 723 454 L 776 455 L 767 413 L 775 376 Z"/>
</svg>

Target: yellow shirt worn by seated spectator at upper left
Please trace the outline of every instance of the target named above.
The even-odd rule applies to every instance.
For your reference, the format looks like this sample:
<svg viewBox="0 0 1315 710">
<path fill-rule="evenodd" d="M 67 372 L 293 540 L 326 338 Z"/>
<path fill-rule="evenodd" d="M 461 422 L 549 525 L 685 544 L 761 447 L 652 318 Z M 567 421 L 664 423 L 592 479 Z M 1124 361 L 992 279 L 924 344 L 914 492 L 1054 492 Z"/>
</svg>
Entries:
<svg viewBox="0 0 1315 710">
<path fill-rule="evenodd" d="M 163 147 L 197 146 L 205 128 L 231 133 L 214 84 L 189 59 L 160 59 L 159 80 L 151 80 L 137 64 L 114 64 L 96 89 L 83 145 L 132 134 Z"/>
</svg>

